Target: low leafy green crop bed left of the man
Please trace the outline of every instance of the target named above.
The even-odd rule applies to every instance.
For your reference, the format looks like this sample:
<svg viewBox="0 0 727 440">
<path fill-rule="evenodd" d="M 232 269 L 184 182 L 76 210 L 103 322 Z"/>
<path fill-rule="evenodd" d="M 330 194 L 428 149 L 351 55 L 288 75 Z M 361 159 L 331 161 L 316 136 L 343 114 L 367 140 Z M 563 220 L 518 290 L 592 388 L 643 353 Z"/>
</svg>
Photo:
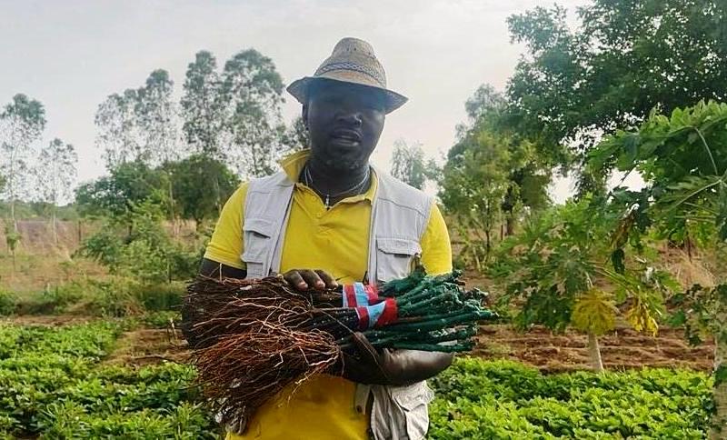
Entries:
<svg viewBox="0 0 727 440">
<path fill-rule="evenodd" d="M 216 438 L 194 370 L 100 366 L 119 325 L 0 325 L 0 435 Z"/>
</svg>

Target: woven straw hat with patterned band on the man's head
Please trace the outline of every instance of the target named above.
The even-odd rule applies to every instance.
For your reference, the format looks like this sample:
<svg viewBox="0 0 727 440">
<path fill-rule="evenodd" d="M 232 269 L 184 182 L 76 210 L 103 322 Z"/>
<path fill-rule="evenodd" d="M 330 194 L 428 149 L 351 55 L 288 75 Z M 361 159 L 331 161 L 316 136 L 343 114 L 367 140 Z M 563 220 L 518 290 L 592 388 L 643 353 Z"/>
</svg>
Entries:
<svg viewBox="0 0 727 440">
<path fill-rule="evenodd" d="M 334 53 L 325 59 L 313 76 L 305 76 L 288 85 L 288 93 L 301 104 L 308 101 L 308 87 L 319 78 L 366 85 L 382 90 L 385 95 L 386 113 L 401 107 L 408 98 L 386 88 L 383 65 L 373 54 L 373 47 L 358 38 L 344 38 L 334 47 Z"/>
</svg>

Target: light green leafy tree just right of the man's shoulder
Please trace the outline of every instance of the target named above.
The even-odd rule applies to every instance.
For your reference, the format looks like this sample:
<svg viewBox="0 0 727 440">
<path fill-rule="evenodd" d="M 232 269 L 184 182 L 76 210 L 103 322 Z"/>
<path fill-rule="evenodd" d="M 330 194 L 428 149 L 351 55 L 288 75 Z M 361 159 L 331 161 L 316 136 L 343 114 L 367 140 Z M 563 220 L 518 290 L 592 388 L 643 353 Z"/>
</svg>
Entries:
<svg viewBox="0 0 727 440">
<path fill-rule="evenodd" d="M 505 100 L 492 86 L 480 86 L 465 107 L 470 121 L 457 127 L 459 139 L 447 155 L 440 197 L 457 218 L 463 254 L 472 255 L 481 270 L 496 225 L 504 226 L 503 235 L 513 235 L 523 214 L 550 204 L 547 185 L 553 163 L 509 129 Z"/>
</svg>

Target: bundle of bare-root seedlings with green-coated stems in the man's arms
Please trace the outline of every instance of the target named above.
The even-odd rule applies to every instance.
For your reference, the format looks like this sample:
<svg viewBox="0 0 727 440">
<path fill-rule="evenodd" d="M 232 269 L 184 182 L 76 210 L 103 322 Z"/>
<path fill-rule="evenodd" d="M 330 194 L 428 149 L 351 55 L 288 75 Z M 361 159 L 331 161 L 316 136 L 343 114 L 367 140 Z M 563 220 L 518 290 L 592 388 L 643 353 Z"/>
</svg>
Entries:
<svg viewBox="0 0 727 440">
<path fill-rule="evenodd" d="M 344 352 L 355 353 L 354 332 L 382 349 L 470 350 L 477 323 L 495 315 L 460 275 L 418 269 L 379 288 L 324 291 L 297 291 L 281 277 L 199 278 L 183 318 L 204 394 L 223 422 L 244 420 L 288 385 L 340 373 Z"/>
</svg>

